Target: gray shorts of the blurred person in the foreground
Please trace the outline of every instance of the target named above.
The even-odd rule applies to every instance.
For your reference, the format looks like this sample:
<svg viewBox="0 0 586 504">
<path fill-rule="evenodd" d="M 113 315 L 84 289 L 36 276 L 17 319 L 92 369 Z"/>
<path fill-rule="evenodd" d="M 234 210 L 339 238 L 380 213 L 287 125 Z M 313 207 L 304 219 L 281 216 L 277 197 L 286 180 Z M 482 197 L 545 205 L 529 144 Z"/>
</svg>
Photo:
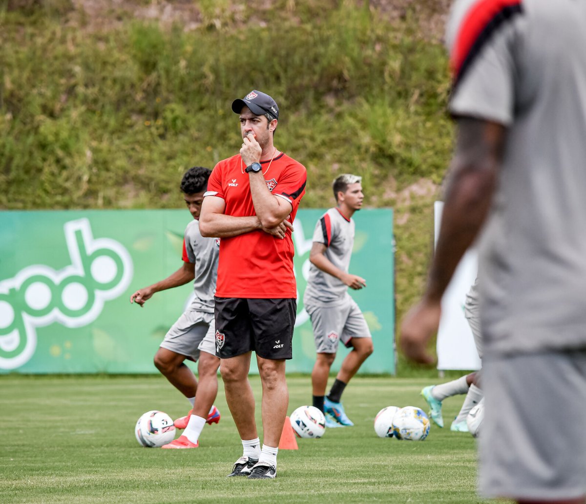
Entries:
<svg viewBox="0 0 586 504">
<path fill-rule="evenodd" d="M 481 495 L 513 500 L 585 495 L 586 349 L 485 356 L 482 373 Z"/>
</svg>

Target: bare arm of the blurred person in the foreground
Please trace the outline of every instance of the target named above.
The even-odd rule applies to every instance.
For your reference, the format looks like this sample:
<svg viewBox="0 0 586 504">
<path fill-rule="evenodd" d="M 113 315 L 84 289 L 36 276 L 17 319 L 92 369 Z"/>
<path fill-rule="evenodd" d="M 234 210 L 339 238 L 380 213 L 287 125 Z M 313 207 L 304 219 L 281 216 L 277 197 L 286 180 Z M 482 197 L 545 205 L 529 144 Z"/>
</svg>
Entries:
<svg viewBox="0 0 586 504">
<path fill-rule="evenodd" d="M 423 299 L 407 313 L 400 344 L 407 358 L 431 364 L 427 342 L 437 331 L 441 298 L 466 249 L 488 215 L 502 160 L 506 129 L 494 122 L 461 118 L 444 198 L 440 236 Z"/>
</svg>

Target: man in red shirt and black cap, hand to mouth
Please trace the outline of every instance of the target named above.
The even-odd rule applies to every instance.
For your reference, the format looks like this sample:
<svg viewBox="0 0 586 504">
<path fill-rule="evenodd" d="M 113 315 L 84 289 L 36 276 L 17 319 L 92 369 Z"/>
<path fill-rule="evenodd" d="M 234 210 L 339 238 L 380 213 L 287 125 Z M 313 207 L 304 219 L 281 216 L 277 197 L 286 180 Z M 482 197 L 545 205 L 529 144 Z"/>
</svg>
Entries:
<svg viewBox="0 0 586 504">
<path fill-rule="evenodd" d="M 243 455 L 229 476 L 270 479 L 289 402 L 285 361 L 297 312 L 292 222 L 305 193 L 306 171 L 274 146 L 279 109 L 260 91 L 234 100 L 243 143 L 239 155 L 212 172 L 200 229 L 220 236 L 216 290 L 216 355 L 222 359 L 226 401 Z M 248 381 L 251 352 L 263 386 L 264 443 L 254 420 Z"/>
</svg>

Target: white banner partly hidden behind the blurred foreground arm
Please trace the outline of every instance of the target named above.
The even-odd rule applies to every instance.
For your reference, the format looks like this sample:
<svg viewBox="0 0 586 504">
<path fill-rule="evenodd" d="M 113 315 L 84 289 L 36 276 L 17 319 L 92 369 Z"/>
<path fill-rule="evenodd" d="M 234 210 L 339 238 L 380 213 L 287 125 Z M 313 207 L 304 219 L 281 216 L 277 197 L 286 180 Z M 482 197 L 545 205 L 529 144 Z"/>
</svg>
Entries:
<svg viewBox="0 0 586 504">
<path fill-rule="evenodd" d="M 434 204 L 435 243 L 440 235 L 441 213 L 444 203 Z M 466 293 L 476 279 L 478 253 L 469 249 L 442 297 L 442 316 L 437 335 L 438 369 L 480 369 L 481 360 L 476 352 L 472 331 L 464 317 Z"/>
</svg>

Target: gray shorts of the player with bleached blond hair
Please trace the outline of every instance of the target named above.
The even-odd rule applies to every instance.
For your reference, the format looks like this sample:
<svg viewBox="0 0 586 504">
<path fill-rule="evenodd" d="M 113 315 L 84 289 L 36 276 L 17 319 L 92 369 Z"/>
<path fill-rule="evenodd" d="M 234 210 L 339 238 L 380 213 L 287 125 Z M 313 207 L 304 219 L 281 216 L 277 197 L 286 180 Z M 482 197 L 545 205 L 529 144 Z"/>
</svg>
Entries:
<svg viewBox="0 0 586 504">
<path fill-rule="evenodd" d="M 352 338 L 372 338 L 362 311 L 350 296 L 335 306 L 305 304 L 305 310 L 311 318 L 318 354 L 335 354 L 339 341 L 350 347 Z"/>
</svg>

